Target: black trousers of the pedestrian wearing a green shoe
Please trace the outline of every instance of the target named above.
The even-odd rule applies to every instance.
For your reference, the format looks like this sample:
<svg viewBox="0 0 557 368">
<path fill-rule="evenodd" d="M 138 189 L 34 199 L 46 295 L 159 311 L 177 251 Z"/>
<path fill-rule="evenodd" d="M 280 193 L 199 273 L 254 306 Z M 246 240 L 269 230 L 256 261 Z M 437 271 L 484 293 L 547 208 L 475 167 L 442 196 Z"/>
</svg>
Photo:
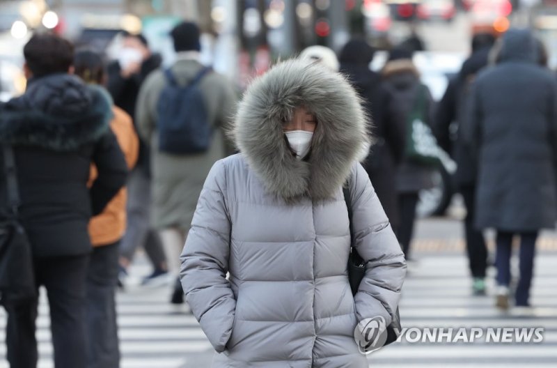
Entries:
<svg viewBox="0 0 557 368">
<path fill-rule="evenodd" d="M 474 227 L 476 212 L 476 187 L 466 185 L 460 187 L 460 193 L 464 197 L 466 206 L 466 218 L 464 219 L 464 236 L 466 237 L 466 252 L 470 262 L 472 277 L 485 277 L 487 268 L 487 246 L 483 233 Z"/>
</svg>

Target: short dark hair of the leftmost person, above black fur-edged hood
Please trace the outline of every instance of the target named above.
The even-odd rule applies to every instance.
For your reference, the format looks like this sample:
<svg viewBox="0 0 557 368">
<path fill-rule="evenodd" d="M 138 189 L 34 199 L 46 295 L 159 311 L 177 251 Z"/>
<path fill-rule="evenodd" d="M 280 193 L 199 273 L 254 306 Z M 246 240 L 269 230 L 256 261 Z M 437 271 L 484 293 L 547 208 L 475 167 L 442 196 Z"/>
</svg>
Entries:
<svg viewBox="0 0 557 368">
<path fill-rule="evenodd" d="M 27 67 L 33 77 L 68 72 L 74 61 L 74 46 L 52 33 L 36 33 L 23 47 Z"/>
</svg>

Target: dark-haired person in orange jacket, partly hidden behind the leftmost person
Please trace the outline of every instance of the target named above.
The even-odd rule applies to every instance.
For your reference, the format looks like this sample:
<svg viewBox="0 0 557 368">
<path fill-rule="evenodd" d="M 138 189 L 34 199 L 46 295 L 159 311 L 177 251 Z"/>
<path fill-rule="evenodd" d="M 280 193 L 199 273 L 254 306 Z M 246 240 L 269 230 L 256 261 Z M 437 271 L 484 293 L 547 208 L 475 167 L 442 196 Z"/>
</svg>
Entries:
<svg viewBox="0 0 557 368">
<path fill-rule="evenodd" d="M 88 84 L 104 86 L 107 82 L 102 56 L 93 51 L 76 52 L 74 68 L 75 74 Z M 118 139 L 128 169 L 132 169 L 139 153 L 132 118 L 116 106 L 112 112 L 110 128 Z M 90 181 L 96 177 L 97 169 L 93 166 Z M 120 366 L 114 294 L 118 284 L 118 245 L 126 226 L 126 200 L 127 192 L 122 188 L 104 211 L 89 222 L 93 253 L 87 273 L 87 368 Z"/>
</svg>

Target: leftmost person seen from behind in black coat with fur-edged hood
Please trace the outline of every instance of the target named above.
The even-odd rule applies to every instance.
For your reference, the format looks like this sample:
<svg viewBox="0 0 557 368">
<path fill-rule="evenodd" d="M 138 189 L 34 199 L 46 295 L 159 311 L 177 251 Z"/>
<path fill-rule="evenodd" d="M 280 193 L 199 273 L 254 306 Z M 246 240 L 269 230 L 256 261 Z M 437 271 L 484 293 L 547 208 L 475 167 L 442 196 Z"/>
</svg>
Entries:
<svg viewBox="0 0 557 368">
<path fill-rule="evenodd" d="M 15 155 L 19 218 L 31 243 L 36 284 L 47 290 L 54 366 L 86 367 L 88 222 L 124 185 L 127 167 L 109 128 L 108 94 L 68 74 L 72 45 L 52 34 L 35 34 L 24 57 L 27 89 L 0 105 L 0 141 Z M 88 188 L 91 163 L 97 176 Z M 6 208 L 3 176 L 0 192 L 0 208 Z M 37 365 L 37 307 L 38 292 L 33 300 L 7 308 L 12 368 Z"/>
</svg>

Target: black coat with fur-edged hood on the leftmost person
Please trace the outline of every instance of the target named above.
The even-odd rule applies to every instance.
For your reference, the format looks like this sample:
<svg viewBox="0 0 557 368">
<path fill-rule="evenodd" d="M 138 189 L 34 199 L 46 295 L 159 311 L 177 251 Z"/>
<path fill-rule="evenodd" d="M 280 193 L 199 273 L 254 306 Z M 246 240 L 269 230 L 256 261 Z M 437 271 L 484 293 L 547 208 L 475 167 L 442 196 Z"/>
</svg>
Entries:
<svg viewBox="0 0 557 368">
<path fill-rule="evenodd" d="M 0 144 L 13 146 L 22 202 L 19 217 L 34 256 L 91 252 L 89 219 L 103 210 L 127 175 L 110 120 L 108 94 L 70 75 L 37 79 L 22 97 L 0 105 Z M 99 174 L 88 189 L 91 162 Z M 1 150 L 0 167 L 3 172 Z"/>
</svg>

